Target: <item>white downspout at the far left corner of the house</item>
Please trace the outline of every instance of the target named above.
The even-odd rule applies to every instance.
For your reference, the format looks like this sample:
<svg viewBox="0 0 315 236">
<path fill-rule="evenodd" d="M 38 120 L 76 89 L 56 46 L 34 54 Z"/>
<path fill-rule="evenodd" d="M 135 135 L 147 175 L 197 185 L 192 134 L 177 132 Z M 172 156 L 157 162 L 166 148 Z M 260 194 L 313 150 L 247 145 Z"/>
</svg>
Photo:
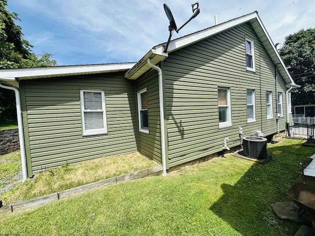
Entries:
<svg viewBox="0 0 315 236">
<path fill-rule="evenodd" d="M 20 150 L 21 150 L 21 160 L 22 160 L 22 181 L 27 180 L 27 164 L 26 164 L 26 155 L 25 155 L 25 145 L 24 145 L 24 133 L 23 133 L 23 122 L 22 122 L 22 110 L 21 110 L 21 100 L 20 100 L 20 91 L 19 89 L 2 85 L 0 83 L 0 88 L 10 89 L 15 92 L 15 101 L 16 101 L 16 113 L 18 118 L 18 128 L 19 128 L 19 139 L 20 139 Z"/>
</svg>

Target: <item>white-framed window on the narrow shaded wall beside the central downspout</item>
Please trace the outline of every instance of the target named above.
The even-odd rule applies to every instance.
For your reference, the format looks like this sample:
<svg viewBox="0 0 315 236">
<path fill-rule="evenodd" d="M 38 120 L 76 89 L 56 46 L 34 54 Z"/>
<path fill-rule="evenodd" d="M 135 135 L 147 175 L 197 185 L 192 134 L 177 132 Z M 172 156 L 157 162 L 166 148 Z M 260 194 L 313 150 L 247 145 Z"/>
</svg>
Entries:
<svg viewBox="0 0 315 236">
<path fill-rule="evenodd" d="M 149 133 L 148 95 L 147 89 L 138 91 L 138 116 L 140 131 Z"/>
</svg>

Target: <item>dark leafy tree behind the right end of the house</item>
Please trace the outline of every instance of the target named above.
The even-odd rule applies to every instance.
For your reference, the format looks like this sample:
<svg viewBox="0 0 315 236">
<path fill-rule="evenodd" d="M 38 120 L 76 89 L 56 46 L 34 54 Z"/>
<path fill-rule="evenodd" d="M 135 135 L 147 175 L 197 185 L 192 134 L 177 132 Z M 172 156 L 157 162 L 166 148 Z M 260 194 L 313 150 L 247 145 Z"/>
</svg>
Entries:
<svg viewBox="0 0 315 236">
<path fill-rule="evenodd" d="M 285 37 L 280 49 L 284 64 L 300 89 L 292 89 L 292 105 L 315 104 L 315 29 Z"/>
</svg>

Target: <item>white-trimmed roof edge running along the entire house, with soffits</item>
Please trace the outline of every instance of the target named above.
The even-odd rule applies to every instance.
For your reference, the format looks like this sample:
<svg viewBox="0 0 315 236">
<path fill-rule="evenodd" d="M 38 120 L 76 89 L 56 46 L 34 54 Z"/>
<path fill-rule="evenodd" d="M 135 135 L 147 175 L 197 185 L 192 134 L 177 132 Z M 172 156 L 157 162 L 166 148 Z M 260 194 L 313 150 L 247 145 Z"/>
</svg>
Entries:
<svg viewBox="0 0 315 236">
<path fill-rule="evenodd" d="M 267 30 L 262 24 L 258 13 L 252 12 L 248 15 L 235 18 L 233 20 L 221 23 L 219 25 L 203 29 L 189 35 L 171 40 L 168 46 L 168 53 L 174 52 L 181 48 L 187 47 L 193 43 L 206 39 L 225 30 L 237 27 L 249 22 L 256 32 L 263 46 L 267 50 L 270 58 L 275 65 L 278 66 L 278 71 L 284 78 L 286 86 L 295 85 L 287 68 L 282 61 L 278 50 L 274 46 Z M 0 81 L 4 84 L 18 88 L 20 80 L 29 80 L 37 78 L 52 78 L 72 75 L 87 75 L 96 73 L 110 73 L 118 71 L 126 71 L 125 78 L 137 79 L 139 76 L 151 69 L 147 63 L 147 59 L 151 59 L 153 64 L 158 64 L 160 61 L 168 57 L 168 53 L 163 53 L 164 45 L 158 44 L 144 55 L 138 62 L 128 63 L 111 63 L 111 64 L 90 64 L 90 65 L 71 65 L 71 66 L 54 66 L 54 67 L 37 67 L 37 68 L 21 68 L 21 69 L 1 69 Z"/>
</svg>

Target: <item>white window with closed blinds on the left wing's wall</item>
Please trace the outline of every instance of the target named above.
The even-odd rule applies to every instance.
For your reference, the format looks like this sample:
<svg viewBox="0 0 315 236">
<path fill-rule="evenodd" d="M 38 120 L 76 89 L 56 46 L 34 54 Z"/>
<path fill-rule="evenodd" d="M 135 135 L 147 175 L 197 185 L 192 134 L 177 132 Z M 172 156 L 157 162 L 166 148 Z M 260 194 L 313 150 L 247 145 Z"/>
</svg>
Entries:
<svg viewBox="0 0 315 236">
<path fill-rule="evenodd" d="M 107 133 L 104 91 L 81 90 L 80 97 L 83 135 Z"/>
</svg>

